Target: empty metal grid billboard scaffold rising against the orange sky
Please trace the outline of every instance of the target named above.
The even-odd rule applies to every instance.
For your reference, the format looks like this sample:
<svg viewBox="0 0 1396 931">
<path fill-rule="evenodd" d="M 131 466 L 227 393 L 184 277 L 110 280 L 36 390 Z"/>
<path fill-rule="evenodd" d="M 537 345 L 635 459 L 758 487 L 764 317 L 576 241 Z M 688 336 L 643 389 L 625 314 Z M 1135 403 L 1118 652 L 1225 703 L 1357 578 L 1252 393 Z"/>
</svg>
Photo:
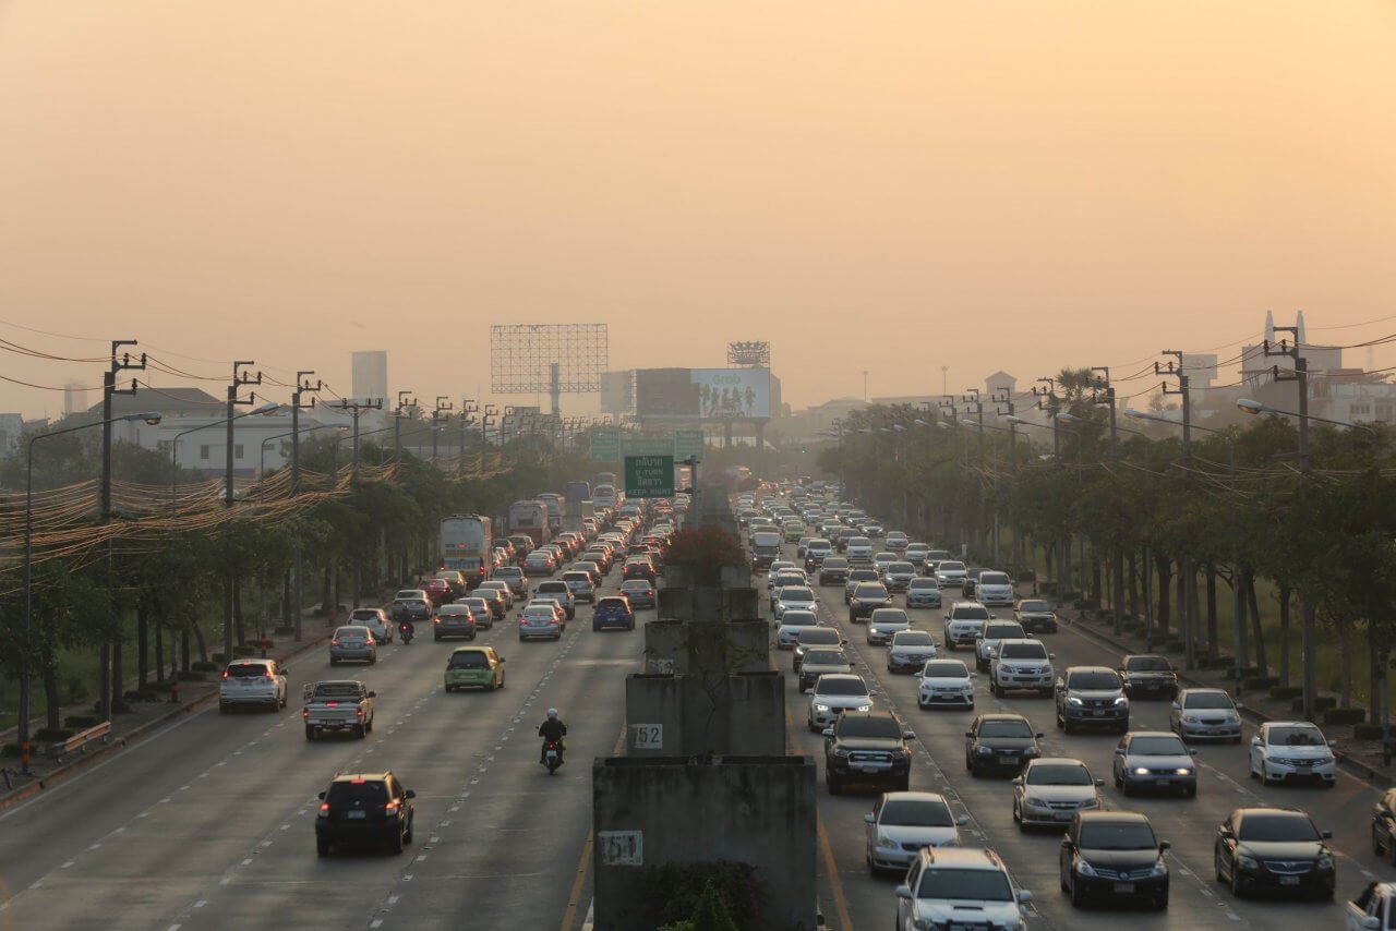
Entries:
<svg viewBox="0 0 1396 931">
<path fill-rule="evenodd" d="M 561 395 L 600 391 L 610 359 L 606 324 L 494 324 L 490 389 L 497 395 L 547 392 L 553 413 Z"/>
</svg>

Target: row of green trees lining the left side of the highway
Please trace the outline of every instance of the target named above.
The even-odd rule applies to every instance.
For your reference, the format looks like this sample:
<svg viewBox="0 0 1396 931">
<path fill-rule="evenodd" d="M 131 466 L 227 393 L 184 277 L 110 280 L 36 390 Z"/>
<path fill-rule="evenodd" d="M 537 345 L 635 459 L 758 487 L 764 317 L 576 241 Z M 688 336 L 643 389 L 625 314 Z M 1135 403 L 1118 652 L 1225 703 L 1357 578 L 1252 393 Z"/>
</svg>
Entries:
<svg viewBox="0 0 1396 931">
<path fill-rule="evenodd" d="M 267 618 L 275 618 L 271 625 L 286 635 L 297 631 L 304 607 L 293 597 L 297 551 L 306 602 L 336 606 L 345 597 L 357 604 L 364 596 L 376 599 L 383 586 L 436 568 L 441 516 L 503 514 L 514 500 L 586 476 L 591 465 L 582 455 L 528 437 L 438 468 L 408 452 L 394 462 L 389 440 L 387 447 L 364 442 L 362 469 L 350 475 L 335 444 L 306 437 L 300 487 L 292 489 L 286 476 L 279 482 L 267 476 L 246 494 L 239 490 L 237 516 L 230 521 L 209 526 L 197 514 L 190 519 L 188 508 L 181 508 L 181 519 L 159 533 L 140 533 L 141 521 L 130 521 L 137 532 L 117 539 L 110 556 L 99 544 L 36 551 L 28 639 L 21 540 L 4 540 L 0 638 L 7 649 L 0 650 L 0 677 L 11 684 L 6 692 L 13 695 L 28 659 L 50 729 L 61 726 L 66 701 L 96 697 L 99 683 L 109 690 L 99 697 L 99 708 L 120 709 L 128 671 L 144 690 L 169 674 L 194 674 L 200 666 L 226 659 L 211 652 L 208 641 L 222 639 L 228 597 L 236 649 L 254 649 Z M 35 489 L 77 489 L 78 497 L 95 502 L 89 486 L 99 469 L 98 456 L 95 444 L 75 435 L 35 445 Z M 128 490 L 145 489 L 161 501 L 166 489 L 208 484 L 209 493 L 201 498 L 207 508 L 225 507 L 215 490 L 219 482 L 183 473 L 163 454 L 140 447 L 114 448 L 113 476 Z M 0 462 L 0 484 L 25 487 L 20 458 Z M 6 496 L 0 508 L 10 516 L 17 509 L 22 514 L 22 491 Z M 21 525 L 10 521 L 8 526 Z M 343 583 L 349 586 L 346 596 L 341 595 Z M 63 670 L 74 667 L 64 659 L 98 655 L 110 663 L 106 670 L 99 663 L 99 673 L 107 673 L 99 674 L 99 681 L 64 680 Z"/>
</svg>

